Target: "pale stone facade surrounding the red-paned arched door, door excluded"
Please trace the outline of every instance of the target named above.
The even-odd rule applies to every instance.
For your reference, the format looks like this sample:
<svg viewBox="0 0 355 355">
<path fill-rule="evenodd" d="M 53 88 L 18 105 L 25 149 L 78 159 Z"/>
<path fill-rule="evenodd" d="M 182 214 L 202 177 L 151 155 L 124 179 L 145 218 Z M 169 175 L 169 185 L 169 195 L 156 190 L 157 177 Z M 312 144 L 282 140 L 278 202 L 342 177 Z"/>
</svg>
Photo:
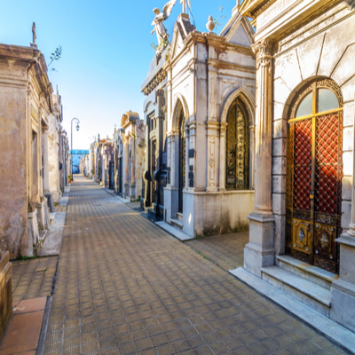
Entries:
<svg viewBox="0 0 355 355">
<path fill-rule="evenodd" d="M 338 108 L 336 108 L 336 112 L 340 114 L 338 137 L 342 137 L 339 140 L 341 153 L 338 162 L 343 161 L 343 166 L 339 165 L 340 171 L 343 169 L 343 176 L 340 175 L 340 180 L 338 175 L 342 191 L 341 197 L 339 196 L 341 207 L 337 214 L 340 220 L 337 223 L 340 225 L 336 225 L 336 228 L 339 228 L 337 231 L 343 231 L 343 234 L 342 232 L 335 233 L 337 239 L 334 245 L 340 245 L 340 252 L 338 264 L 333 263 L 335 268 L 333 272 L 339 273 L 340 277 L 336 280 L 337 276 L 334 276 L 335 281 L 331 285 L 332 302 L 327 314 L 331 319 L 354 331 L 355 321 L 350 315 L 351 312 L 346 312 L 345 309 L 345 307 L 349 309 L 355 306 L 355 279 L 352 262 L 355 256 L 353 208 L 351 212 L 351 200 L 353 203 L 354 199 L 355 117 L 355 67 L 353 66 L 355 9 L 353 2 L 264 1 L 262 10 L 260 7 L 257 8 L 260 3 L 246 0 L 241 5 L 241 13 L 253 17 L 252 23 L 256 25 L 256 44 L 252 47 L 256 52 L 257 68 L 256 177 L 260 177 L 260 180 L 256 181 L 255 212 L 249 217 L 250 240 L 245 249 L 244 267 L 248 272 L 263 278 L 263 268 L 275 263 L 279 264 L 279 256 L 286 253 L 292 257 L 300 257 L 297 252 L 294 252 L 295 249 L 290 254 L 290 248 L 298 248 L 298 241 L 293 236 L 294 241 L 291 241 L 289 245 L 287 229 L 289 206 L 287 196 L 289 189 L 295 188 L 293 183 L 290 185 L 288 174 L 288 153 L 291 151 L 288 144 L 292 125 L 290 120 L 298 117 L 295 116 L 295 109 L 298 109 L 297 105 L 303 102 L 302 95 L 307 88 L 313 85 L 312 92 L 315 98 L 311 104 L 313 107 L 316 107 L 319 88 L 327 88 L 338 99 Z M 319 106 L 313 108 L 310 117 L 312 115 L 316 117 L 322 112 L 318 109 Z M 334 113 L 334 107 L 332 109 Z M 306 115 L 303 116 L 306 117 Z M 330 116 L 327 117 L 330 119 Z M 319 123 L 315 118 L 314 120 L 317 123 L 313 124 L 317 126 L 313 127 L 317 128 L 313 128 L 313 131 L 317 131 Z M 330 136 L 329 131 L 327 137 Z M 317 139 L 317 136 L 314 137 L 313 140 Z M 316 145 L 315 154 L 318 152 L 317 149 Z M 319 184 L 326 179 L 327 177 L 319 177 Z M 317 203 L 322 195 L 323 197 L 327 195 L 327 191 L 324 190 L 314 191 L 315 197 L 313 191 L 307 191 L 306 194 L 308 193 L 310 193 L 311 200 L 315 199 L 313 203 Z M 307 200 L 308 196 L 304 199 Z M 326 222 L 319 222 L 317 218 L 316 213 L 315 221 L 323 227 L 321 223 L 323 222 L 324 225 Z M 327 223 L 330 219 L 329 217 Z M 293 222 L 298 223 L 295 220 Z M 316 224 L 315 228 L 319 225 Z M 313 235 L 312 238 L 315 240 L 317 233 L 310 235 Z M 322 238 L 321 249 L 325 248 L 327 243 L 327 239 Z M 315 254 L 317 254 L 318 247 L 312 248 L 316 249 Z M 304 251 L 305 258 L 311 260 L 307 263 L 314 263 L 319 268 L 327 270 L 335 257 L 333 252 L 329 253 L 319 263 L 319 256 L 309 257 L 306 254 Z"/>
</svg>

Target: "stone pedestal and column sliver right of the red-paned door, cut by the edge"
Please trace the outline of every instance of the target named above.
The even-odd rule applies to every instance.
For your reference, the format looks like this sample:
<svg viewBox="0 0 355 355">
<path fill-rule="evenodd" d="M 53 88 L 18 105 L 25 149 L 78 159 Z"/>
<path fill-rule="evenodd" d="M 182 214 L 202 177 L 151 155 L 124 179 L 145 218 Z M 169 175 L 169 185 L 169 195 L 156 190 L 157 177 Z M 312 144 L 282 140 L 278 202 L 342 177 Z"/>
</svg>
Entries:
<svg viewBox="0 0 355 355">
<path fill-rule="evenodd" d="M 351 224 L 349 230 L 336 240 L 340 244 L 340 269 L 339 279 L 331 288 L 330 318 L 355 332 L 355 318 L 353 312 L 349 312 L 355 308 L 355 141 L 353 144 Z"/>
</svg>

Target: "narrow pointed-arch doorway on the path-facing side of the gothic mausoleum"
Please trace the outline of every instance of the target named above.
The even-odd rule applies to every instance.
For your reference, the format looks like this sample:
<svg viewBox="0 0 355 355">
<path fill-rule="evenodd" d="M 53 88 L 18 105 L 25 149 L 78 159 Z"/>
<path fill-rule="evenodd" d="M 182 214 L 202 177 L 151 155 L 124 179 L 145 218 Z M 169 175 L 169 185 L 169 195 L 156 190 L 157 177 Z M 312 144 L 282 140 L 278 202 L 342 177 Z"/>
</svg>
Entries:
<svg viewBox="0 0 355 355">
<path fill-rule="evenodd" d="M 186 157 L 186 141 L 185 141 L 185 114 L 180 105 L 180 114 L 178 117 L 178 212 L 183 213 L 183 198 L 185 187 L 185 157 Z"/>
</svg>

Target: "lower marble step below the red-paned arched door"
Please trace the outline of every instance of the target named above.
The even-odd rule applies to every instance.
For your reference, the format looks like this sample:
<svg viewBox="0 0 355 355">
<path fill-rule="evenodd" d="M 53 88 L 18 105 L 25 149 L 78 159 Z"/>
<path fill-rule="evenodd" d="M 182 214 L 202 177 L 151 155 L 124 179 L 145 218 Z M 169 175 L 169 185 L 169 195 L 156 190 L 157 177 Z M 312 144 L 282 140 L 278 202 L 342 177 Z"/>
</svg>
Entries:
<svg viewBox="0 0 355 355">
<path fill-rule="evenodd" d="M 295 273 L 281 269 L 279 266 L 264 267 L 261 271 L 262 279 L 273 287 L 279 288 L 289 296 L 308 305 L 313 310 L 329 317 L 331 304 L 330 290 L 322 288 Z"/>
</svg>

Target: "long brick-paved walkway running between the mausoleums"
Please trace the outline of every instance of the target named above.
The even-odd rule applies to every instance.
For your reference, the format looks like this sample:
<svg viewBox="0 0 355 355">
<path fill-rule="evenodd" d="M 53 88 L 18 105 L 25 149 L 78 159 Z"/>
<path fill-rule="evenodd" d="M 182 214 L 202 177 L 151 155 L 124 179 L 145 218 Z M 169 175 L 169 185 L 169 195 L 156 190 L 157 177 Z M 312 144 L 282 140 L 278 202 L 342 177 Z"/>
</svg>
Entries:
<svg viewBox="0 0 355 355">
<path fill-rule="evenodd" d="M 45 353 L 342 351 L 98 185 L 76 177 Z"/>
</svg>

